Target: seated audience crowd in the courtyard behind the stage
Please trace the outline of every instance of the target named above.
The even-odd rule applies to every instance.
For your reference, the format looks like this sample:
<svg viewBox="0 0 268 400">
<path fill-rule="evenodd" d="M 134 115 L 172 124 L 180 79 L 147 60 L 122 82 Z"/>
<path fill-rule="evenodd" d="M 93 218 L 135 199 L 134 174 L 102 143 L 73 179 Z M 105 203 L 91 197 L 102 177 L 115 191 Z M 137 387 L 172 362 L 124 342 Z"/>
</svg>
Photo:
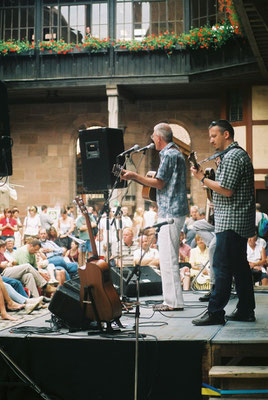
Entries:
<svg viewBox="0 0 268 400">
<path fill-rule="evenodd" d="M 98 255 L 111 265 L 148 266 L 161 275 L 157 233 L 157 206 L 137 208 L 133 217 L 126 206 L 99 216 L 88 207 Z M 259 236 L 263 215 L 256 205 L 256 235 L 248 239 L 247 256 L 255 284 L 268 285 L 267 237 Z M 120 210 L 119 210 L 120 211 Z M 267 217 L 267 216 L 266 216 Z M 146 229 L 144 229 L 146 227 Z M 151 228 L 149 228 L 151 227 Z M 109 245 L 107 246 L 107 243 Z M 209 290 L 214 283 L 212 268 L 216 235 L 206 211 L 191 206 L 180 234 L 178 248 L 183 290 Z M 2 319 L 16 319 L 9 311 L 46 307 L 58 286 L 74 277 L 78 266 L 92 255 L 86 218 L 74 206 L 63 207 L 57 219 L 43 205 L 27 209 L 20 218 L 18 208 L 0 212 L 0 312 Z"/>
</svg>

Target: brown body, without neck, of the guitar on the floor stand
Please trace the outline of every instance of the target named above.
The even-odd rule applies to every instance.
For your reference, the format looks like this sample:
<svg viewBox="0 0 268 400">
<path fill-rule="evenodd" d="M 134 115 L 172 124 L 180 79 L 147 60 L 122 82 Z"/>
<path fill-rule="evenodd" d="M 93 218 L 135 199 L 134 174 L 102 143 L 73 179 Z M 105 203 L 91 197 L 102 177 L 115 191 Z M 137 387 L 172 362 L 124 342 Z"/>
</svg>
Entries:
<svg viewBox="0 0 268 400">
<path fill-rule="evenodd" d="M 78 269 L 78 273 L 81 282 L 80 301 L 82 307 L 86 304 L 85 316 L 91 321 L 99 319 L 101 322 L 120 318 L 122 306 L 111 280 L 109 265 L 103 260 L 89 261 Z M 93 297 L 93 303 L 88 296 L 88 288 Z M 98 318 L 96 318 L 94 305 Z"/>
</svg>

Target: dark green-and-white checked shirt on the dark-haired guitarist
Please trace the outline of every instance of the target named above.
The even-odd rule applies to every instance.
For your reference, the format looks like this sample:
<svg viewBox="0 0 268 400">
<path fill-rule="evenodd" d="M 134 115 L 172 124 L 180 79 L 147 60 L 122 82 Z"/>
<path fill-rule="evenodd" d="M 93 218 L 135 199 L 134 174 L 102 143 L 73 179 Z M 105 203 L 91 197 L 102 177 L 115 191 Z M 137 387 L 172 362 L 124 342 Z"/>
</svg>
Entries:
<svg viewBox="0 0 268 400">
<path fill-rule="evenodd" d="M 236 146 L 237 142 L 230 144 L 234 149 L 222 156 L 216 171 L 216 181 L 233 195 L 213 192 L 215 232 L 233 230 L 249 238 L 255 232 L 254 170 L 247 152 Z"/>
</svg>

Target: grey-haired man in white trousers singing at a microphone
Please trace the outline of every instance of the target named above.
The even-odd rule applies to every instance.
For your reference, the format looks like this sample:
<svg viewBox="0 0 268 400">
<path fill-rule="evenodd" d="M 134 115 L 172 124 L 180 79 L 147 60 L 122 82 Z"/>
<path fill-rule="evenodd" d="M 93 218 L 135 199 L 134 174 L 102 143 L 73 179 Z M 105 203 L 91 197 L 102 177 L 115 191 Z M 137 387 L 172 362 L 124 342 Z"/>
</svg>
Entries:
<svg viewBox="0 0 268 400">
<path fill-rule="evenodd" d="M 160 165 L 155 178 L 143 177 L 133 171 L 122 171 L 121 179 L 131 180 L 156 188 L 158 222 L 173 218 L 173 224 L 161 227 L 158 234 L 163 304 L 154 307 L 159 311 L 183 310 L 184 302 L 180 283 L 178 249 L 180 231 L 188 213 L 186 195 L 186 166 L 178 146 L 172 141 L 170 126 L 160 123 L 154 127 L 152 140 L 159 151 Z"/>
</svg>

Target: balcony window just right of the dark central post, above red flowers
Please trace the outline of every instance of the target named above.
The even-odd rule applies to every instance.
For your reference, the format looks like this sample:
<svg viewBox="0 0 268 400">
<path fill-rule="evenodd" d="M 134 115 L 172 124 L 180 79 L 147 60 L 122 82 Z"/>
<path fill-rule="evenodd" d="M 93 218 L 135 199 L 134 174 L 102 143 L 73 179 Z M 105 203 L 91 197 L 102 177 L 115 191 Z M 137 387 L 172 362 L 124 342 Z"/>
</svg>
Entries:
<svg viewBox="0 0 268 400">
<path fill-rule="evenodd" d="M 183 32 L 183 0 L 117 0 L 117 39 L 142 40 L 165 31 Z"/>
</svg>

